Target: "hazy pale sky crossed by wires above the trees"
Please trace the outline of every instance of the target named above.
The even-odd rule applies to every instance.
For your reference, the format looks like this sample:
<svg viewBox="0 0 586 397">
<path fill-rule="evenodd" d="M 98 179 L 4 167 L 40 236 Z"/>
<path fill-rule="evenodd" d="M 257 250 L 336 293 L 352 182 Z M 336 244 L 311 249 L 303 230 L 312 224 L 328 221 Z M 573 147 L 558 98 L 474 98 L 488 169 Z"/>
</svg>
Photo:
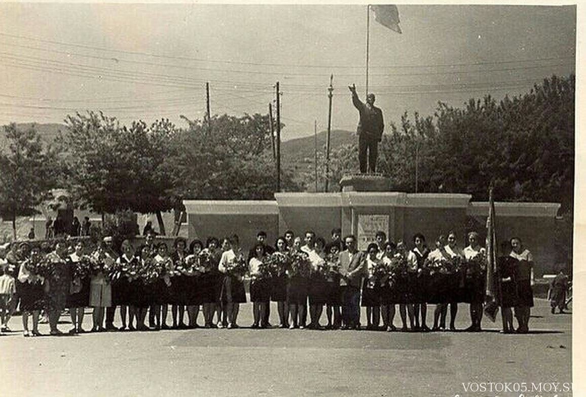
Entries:
<svg viewBox="0 0 586 397">
<path fill-rule="evenodd" d="M 369 91 L 385 122 L 438 101 L 529 91 L 575 70 L 574 6 L 398 5 L 402 34 L 370 19 Z M 371 14 L 372 15 L 372 14 Z M 354 130 L 365 94 L 366 5 L 0 4 L 0 124 L 102 110 L 124 124 L 268 112 L 282 139 Z"/>
</svg>

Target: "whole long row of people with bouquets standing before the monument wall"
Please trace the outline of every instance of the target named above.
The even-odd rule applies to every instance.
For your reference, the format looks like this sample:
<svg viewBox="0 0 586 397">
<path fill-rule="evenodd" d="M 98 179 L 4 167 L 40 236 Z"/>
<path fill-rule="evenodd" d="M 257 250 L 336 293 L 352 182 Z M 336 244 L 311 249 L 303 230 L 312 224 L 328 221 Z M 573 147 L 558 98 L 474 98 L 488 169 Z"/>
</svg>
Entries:
<svg viewBox="0 0 586 397">
<path fill-rule="evenodd" d="M 238 328 L 248 283 L 252 328 L 272 327 L 270 302 L 276 302 L 281 328 L 396 331 L 398 306 L 401 331 L 454 331 L 458 303 L 464 302 L 470 304 L 471 325 L 466 331 L 478 332 L 486 291 L 486 252 L 478 233 L 470 232 L 466 242 L 460 248 L 456 234 L 449 232 L 431 247 L 420 233 L 410 243 L 395 244 L 379 231 L 376 242 L 359 251 L 355 236 L 342 238 L 341 231 L 334 229 L 328 242 L 311 230 L 298 237 L 287 231 L 274 245 L 267 244 L 261 231 L 247 254 L 237 235 L 189 244 L 179 237 L 168 247 L 149 232 L 137 248 L 128 239 L 122 241 L 120 252 L 110 237 L 91 246 L 81 240 L 72 246 L 65 240 L 41 246 L 13 243 L 9 252 L 0 251 L 2 330 L 9 329 L 18 304 L 27 337 L 40 334 L 41 314 L 47 317 L 51 335 L 62 334 L 57 324 L 65 309 L 71 316 L 72 334 Z M 532 266 L 532 254 L 519 238 L 501 245 L 496 278 L 505 333 L 529 330 Z M 435 304 L 431 327 L 428 304 Z M 362 323 L 361 306 L 366 308 Z M 93 307 L 91 330 L 82 326 L 87 307 Z M 117 309 L 120 323 L 115 325 Z M 200 310 L 203 324 L 198 320 Z"/>
</svg>

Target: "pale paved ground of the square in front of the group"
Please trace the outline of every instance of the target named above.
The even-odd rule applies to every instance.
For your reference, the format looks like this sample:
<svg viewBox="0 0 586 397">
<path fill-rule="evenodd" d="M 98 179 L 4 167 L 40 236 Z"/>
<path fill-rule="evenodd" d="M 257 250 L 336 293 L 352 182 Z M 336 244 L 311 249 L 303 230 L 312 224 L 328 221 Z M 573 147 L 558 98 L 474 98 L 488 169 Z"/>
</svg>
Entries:
<svg viewBox="0 0 586 397">
<path fill-rule="evenodd" d="M 248 326 L 251 304 L 240 313 Z M 482 333 L 240 328 L 36 338 L 16 332 L 21 318 L 13 317 L 13 332 L 0 337 L 0 383 L 15 396 L 492 397 L 520 393 L 466 392 L 462 383 L 541 382 L 541 392 L 524 396 L 554 396 L 545 382 L 571 382 L 571 314 L 552 315 L 536 300 L 533 316 L 526 335 L 499 334 L 500 321 L 485 319 Z M 271 317 L 276 323 L 276 307 Z M 456 326 L 468 319 L 461 304 Z M 85 322 L 89 329 L 90 314 Z"/>
</svg>

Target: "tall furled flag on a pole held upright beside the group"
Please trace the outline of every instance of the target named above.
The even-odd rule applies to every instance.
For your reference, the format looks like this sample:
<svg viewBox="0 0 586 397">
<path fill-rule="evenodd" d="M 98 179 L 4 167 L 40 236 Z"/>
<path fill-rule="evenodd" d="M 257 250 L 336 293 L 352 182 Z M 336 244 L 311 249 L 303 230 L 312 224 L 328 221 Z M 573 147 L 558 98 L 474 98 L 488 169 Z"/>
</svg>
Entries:
<svg viewBox="0 0 586 397">
<path fill-rule="evenodd" d="M 492 187 L 489 193 L 488 218 L 486 218 L 486 298 L 484 312 L 494 323 L 499 311 L 499 287 L 496 279 L 496 233 L 495 233 L 495 201 Z"/>
</svg>

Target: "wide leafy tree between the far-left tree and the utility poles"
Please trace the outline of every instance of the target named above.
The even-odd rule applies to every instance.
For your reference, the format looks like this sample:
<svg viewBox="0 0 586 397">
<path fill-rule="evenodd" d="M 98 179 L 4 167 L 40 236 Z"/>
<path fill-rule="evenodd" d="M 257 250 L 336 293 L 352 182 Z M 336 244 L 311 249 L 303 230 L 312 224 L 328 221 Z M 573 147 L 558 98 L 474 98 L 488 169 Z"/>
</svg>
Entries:
<svg viewBox="0 0 586 397">
<path fill-rule="evenodd" d="M 160 120 L 121 126 L 101 112 L 69 115 L 66 123 L 67 132 L 59 138 L 69 170 L 64 182 L 77 202 L 102 214 L 155 213 L 165 234 L 161 211 L 176 202 L 168 193 L 173 186 L 164 166 L 175 125 Z"/>
</svg>

